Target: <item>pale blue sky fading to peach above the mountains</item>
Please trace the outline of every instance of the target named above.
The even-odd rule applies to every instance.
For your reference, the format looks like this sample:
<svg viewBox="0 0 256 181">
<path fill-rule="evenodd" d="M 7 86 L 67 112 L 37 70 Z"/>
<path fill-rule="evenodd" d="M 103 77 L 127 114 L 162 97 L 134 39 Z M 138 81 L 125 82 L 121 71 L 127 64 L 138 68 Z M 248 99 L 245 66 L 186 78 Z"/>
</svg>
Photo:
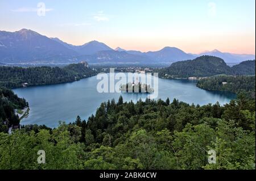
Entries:
<svg viewBox="0 0 256 181">
<path fill-rule="evenodd" d="M 255 54 L 255 0 L 0 0 L 0 30 L 82 45 Z"/>
</svg>

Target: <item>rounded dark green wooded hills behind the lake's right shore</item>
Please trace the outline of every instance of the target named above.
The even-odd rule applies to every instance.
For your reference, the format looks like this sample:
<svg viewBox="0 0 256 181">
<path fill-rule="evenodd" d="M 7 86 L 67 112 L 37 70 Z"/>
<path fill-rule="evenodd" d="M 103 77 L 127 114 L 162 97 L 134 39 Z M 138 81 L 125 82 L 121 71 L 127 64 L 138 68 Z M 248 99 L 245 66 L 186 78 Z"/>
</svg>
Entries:
<svg viewBox="0 0 256 181">
<path fill-rule="evenodd" d="M 159 77 L 165 78 L 209 77 L 220 74 L 253 75 L 255 60 L 244 61 L 230 68 L 221 58 L 201 56 L 194 60 L 175 62 L 168 68 L 159 69 Z"/>
</svg>

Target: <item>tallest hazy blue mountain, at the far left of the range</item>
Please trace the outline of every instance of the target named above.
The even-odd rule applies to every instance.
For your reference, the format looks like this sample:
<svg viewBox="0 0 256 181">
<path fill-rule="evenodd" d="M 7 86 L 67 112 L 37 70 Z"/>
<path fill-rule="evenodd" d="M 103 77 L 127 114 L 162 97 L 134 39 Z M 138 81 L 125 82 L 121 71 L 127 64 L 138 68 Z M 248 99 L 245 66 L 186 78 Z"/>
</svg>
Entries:
<svg viewBox="0 0 256 181">
<path fill-rule="evenodd" d="M 0 33 L 0 39 L 0 62 L 67 61 L 77 56 L 74 50 L 26 28 Z"/>
</svg>

